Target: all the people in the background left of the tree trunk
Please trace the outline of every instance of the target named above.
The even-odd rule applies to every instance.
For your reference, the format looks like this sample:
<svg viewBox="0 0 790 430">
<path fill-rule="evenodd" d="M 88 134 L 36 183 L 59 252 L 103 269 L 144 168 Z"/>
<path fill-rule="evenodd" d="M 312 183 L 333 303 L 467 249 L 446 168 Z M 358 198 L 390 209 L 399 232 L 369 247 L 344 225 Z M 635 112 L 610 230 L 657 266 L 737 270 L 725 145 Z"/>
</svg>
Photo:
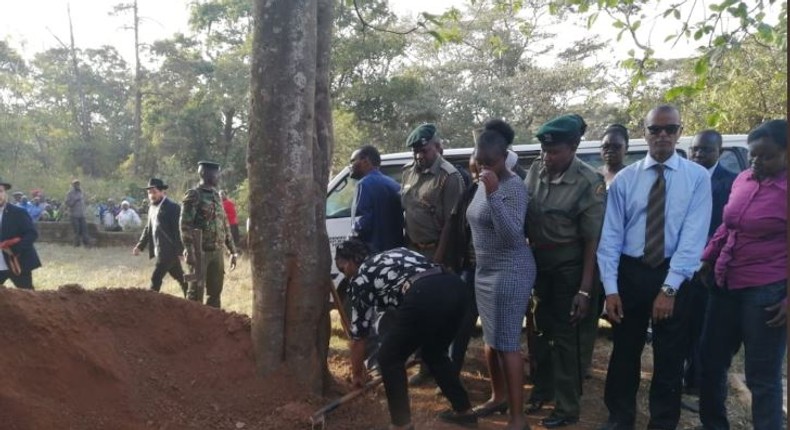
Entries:
<svg viewBox="0 0 790 430">
<path fill-rule="evenodd" d="M 148 248 L 149 257 L 155 259 L 151 290 L 159 291 L 165 275 L 170 274 L 186 298 L 202 303 L 205 297 L 207 305 L 219 308 L 225 274 L 223 248 L 230 255 L 231 270 L 238 257 L 236 210 L 224 193 L 220 197 L 219 164 L 199 162 L 198 176 L 198 185 L 187 190 L 181 205 L 167 197 L 169 187 L 164 181 L 151 178 L 147 186 L 141 187 L 148 196 L 144 223 L 127 200 L 115 206 L 114 200 L 109 199 L 106 205 L 98 205 L 96 215 L 110 231 L 116 226 L 123 231 L 142 227 L 132 254 L 140 255 Z M 28 205 L 23 204 L 27 203 L 23 193 L 13 193 L 14 201 L 9 201 L 7 192 L 11 187 L 0 179 L 0 285 L 10 279 L 16 287 L 32 290 L 32 272 L 41 267 L 34 247 L 38 238 L 35 222 L 40 217 L 30 214 Z M 39 195 L 34 197 L 38 198 Z M 87 206 L 80 181 L 74 179 L 62 207 L 73 228 L 75 247 L 94 244 L 88 234 Z M 189 268 L 186 274 L 182 262 Z"/>
</svg>

